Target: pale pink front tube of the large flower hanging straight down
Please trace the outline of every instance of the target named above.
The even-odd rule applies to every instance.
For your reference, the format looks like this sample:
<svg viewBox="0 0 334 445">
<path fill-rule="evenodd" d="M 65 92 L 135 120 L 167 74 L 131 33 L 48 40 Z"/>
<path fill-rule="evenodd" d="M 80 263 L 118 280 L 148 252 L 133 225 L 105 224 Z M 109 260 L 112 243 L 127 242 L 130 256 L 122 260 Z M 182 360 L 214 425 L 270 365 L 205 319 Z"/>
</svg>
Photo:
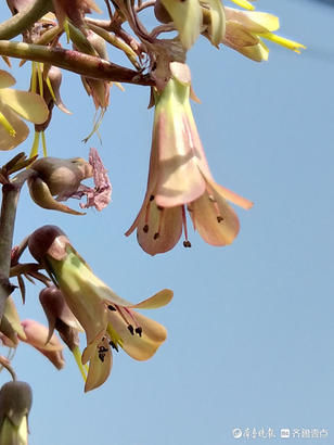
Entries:
<svg viewBox="0 0 334 445">
<path fill-rule="evenodd" d="M 205 181 L 197 168 L 196 127 L 189 104 L 190 86 L 170 79 L 157 100 L 150 169 L 158 171 L 155 199 L 163 207 L 198 198 Z"/>
</svg>

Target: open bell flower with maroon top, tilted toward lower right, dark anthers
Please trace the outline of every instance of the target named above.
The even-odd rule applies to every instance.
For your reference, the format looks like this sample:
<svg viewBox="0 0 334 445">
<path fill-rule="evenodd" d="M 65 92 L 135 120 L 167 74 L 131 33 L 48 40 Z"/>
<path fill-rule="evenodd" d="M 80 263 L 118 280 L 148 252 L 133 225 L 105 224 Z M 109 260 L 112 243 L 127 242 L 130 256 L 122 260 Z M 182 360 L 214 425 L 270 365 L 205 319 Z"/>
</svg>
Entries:
<svg viewBox="0 0 334 445">
<path fill-rule="evenodd" d="M 111 347 L 123 347 L 131 357 L 145 360 L 166 340 L 165 328 L 133 309 L 158 308 L 172 297 L 163 290 L 141 303 L 120 298 L 100 280 L 55 226 L 37 229 L 28 242 L 31 255 L 49 272 L 69 309 L 85 329 L 87 347 L 82 364 L 90 363 L 85 391 L 101 385 L 112 368 Z"/>
</svg>

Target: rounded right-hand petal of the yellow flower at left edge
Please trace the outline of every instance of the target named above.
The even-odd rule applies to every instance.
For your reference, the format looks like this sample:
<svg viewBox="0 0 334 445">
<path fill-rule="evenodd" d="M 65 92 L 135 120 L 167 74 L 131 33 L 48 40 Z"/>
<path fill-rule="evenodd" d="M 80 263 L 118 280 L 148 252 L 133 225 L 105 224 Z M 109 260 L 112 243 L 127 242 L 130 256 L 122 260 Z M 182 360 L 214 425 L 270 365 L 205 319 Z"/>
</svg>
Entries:
<svg viewBox="0 0 334 445">
<path fill-rule="evenodd" d="M 49 116 L 46 102 L 35 92 L 4 88 L 0 97 L 20 116 L 34 124 L 43 124 Z"/>
</svg>

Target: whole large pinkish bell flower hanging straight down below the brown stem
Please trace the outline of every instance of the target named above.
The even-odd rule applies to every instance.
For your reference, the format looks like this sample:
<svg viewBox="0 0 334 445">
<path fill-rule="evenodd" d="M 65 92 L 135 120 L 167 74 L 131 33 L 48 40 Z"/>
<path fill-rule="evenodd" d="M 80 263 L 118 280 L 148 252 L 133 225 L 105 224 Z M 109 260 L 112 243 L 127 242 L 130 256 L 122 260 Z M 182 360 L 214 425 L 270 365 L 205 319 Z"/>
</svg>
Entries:
<svg viewBox="0 0 334 445">
<path fill-rule="evenodd" d="M 175 246 L 184 228 L 190 246 L 185 206 L 194 228 L 209 244 L 230 244 L 239 232 L 231 201 L 244 208 L 252 203 L 215 182 L 192 115 L 190 71 L 170 64 L 172 77 L 155 92 L 155 114 L 147 190 L 143 205 L 126 236 L 137 229 L 142 249 L 155 255 Z"/>
</svg>

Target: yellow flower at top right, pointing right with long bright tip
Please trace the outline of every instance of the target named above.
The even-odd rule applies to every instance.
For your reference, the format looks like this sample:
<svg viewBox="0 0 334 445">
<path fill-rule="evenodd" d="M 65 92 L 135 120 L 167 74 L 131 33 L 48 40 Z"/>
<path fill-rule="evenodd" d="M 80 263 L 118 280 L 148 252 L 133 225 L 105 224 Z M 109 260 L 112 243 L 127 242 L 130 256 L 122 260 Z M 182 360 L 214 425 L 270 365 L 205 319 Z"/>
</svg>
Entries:
<svg viewBox="0 0 334 445">
<path fill-rule="evenodd" d="M 279 18 L 266 12 L 240 11 L 226 8 L 226 35 L 222 43 L 256 62 L 267 61 L 269 49 L 262 39 L 300 53 L 301 43 L 273 34 L 280 27 Z"/>
</svg>

